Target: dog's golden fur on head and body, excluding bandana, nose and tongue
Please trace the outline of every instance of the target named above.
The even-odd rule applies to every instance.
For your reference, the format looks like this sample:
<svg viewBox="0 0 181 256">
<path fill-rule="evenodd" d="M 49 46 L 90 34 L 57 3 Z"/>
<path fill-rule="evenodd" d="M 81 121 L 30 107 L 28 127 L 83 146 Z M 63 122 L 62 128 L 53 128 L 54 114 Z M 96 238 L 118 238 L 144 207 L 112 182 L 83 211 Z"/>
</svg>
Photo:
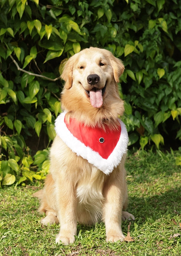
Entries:
<svg viewBox="0 0 181 256">
<path fill-rule="evenodd" d="M 121 60 L 105 49 L 89 48 L 72 56 L 64 66 L 62 79 L 62 108 L 70 117 L 95 127 L 109 124 L 117 128 L 117 117 L 124 112 L 119 98 L 117 82 L 124 71 Z M 95 108 L 86 91 L 93 89 L 87 83 L 87 76 L 100 77 L 96 85 L 103 89 L 103 103 Z M 77 156 L 56 136 L 50 150 L 50 174 L 44 188 L 35 193 L 41 200 L 40 212 L 45 212 L 43 224 L 60 222 L 56 242 L 69 244 L 75 241 L 77 222 L 93 224 L 101 218 L 106 226 L 107 241 L 124 240 L 121 218 L 134 219 L 128 212 L 127 185 L 124 168 L 126 155 L 121 163 L 107 176 L 101 170 Z"/>
</svg>

